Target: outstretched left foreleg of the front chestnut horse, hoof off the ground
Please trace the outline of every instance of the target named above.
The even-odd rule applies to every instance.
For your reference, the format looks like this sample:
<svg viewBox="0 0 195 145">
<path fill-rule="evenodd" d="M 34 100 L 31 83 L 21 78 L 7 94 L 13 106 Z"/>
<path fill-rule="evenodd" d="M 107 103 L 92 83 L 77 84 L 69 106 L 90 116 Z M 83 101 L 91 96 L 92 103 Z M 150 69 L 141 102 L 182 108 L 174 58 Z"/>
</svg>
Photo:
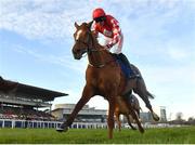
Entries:
<svg viewBox="0 0 195 145">
<path fill-rule="evenodd" d="M 73 113 L 70 116 L 67 118 L 67 120 L 61 124 L 61 128 L 57 129 L 57 131 L 67 131 L 67 128 L 72 126 L 74 119 L 76 118 L 77 114 L 79 110 L 88 103 L 88 101 L 94 95 L 93 88 L 90 85 L 86 85 L 82 92 L 81 98 L 78 101 L 76 104 Z"/>
</svg>

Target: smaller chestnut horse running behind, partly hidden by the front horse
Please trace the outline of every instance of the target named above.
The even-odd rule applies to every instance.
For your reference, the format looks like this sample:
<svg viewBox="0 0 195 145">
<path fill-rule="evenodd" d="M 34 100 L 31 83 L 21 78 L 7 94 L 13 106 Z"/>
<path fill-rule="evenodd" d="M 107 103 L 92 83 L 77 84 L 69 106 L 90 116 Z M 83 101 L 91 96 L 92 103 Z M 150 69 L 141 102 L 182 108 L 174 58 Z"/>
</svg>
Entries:
<svg viewBox="0 0 195 145">
<path fill-rule="evenodd" d="M 123 115 L 123 116 L 126 116 L 128 124 L 131 127 L 131 129 L 136 130 L 131 124 L 131 119 L 130 119 L 131 114 L 130 114 L 129 108 L 127 107 L 127 105 L 130 105 L 132 107 L 132 109 L 135 111 L 136 116 L 140 118 L 140 109 L 141 109 L 141 107 L 140 107 L 139 100 L 133 94 L 127 95 L 125 97 L 127 97 L 126 103 L 120 101 L 120 98 L 117 98 L 117 101 L 116 101 L 115 117 L 116 117 L 116 121 L 118 123 L 118 129 L 119 129 L 119 131 L 121 131 L 121 122 L 120 122 L 119 117 L 120 117 L 120 115 Z"/>
</svg>

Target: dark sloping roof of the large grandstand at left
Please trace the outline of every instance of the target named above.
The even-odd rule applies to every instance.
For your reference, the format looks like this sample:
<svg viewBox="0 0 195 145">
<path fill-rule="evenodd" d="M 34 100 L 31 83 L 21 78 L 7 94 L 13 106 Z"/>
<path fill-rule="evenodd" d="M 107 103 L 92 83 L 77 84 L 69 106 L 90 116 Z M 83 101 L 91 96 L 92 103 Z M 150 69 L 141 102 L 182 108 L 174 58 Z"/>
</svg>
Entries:
<svg viewBox="0 0 195 145">
<path fill-rule="evenodd" d="M 20 82 L 5 80 L 0 76 L 0 91 L 4 94 L 14 94 L 16 97 L 40 98 L 44 102 L 53 101 L 55 97 L 68 95 L 66 93 L 32 87 Z"/>
</svg>

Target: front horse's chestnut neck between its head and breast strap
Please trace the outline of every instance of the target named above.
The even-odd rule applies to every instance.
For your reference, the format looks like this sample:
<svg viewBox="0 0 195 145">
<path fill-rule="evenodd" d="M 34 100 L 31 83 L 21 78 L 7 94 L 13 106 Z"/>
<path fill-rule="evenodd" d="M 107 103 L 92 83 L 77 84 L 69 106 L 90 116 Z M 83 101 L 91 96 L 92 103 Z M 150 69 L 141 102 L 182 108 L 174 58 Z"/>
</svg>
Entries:
<svg viewBox="0 0 195 145">
<path fill-rule="evenodd" d="M 95 45 L 96 51 L 92 51 L 90 54 L 88 54 L 89 63 L 91 65 L 103 66 L 113 60 L 110 53 L 104 50 L 101 44 L 96 43 Z"/>
</svg>

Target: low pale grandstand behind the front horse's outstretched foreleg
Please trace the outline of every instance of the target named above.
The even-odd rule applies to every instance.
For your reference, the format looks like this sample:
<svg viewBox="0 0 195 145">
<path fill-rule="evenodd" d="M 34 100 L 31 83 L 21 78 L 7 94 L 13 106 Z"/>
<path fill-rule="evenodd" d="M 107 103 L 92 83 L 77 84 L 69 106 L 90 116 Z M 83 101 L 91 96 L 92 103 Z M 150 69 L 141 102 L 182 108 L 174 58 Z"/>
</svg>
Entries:
<svg viewBox="0 0 195 145">
<path fill-rule="evenodd" d="M 65 121 L 74 110 L 76 104 L 56 104 L 52 110 L 52 115 L 60 121 Z M 107 110 L 95 109 L 84 105 L 78 113 L 70 128 L 106 128 L 107 127 Z"/>
</svg>

